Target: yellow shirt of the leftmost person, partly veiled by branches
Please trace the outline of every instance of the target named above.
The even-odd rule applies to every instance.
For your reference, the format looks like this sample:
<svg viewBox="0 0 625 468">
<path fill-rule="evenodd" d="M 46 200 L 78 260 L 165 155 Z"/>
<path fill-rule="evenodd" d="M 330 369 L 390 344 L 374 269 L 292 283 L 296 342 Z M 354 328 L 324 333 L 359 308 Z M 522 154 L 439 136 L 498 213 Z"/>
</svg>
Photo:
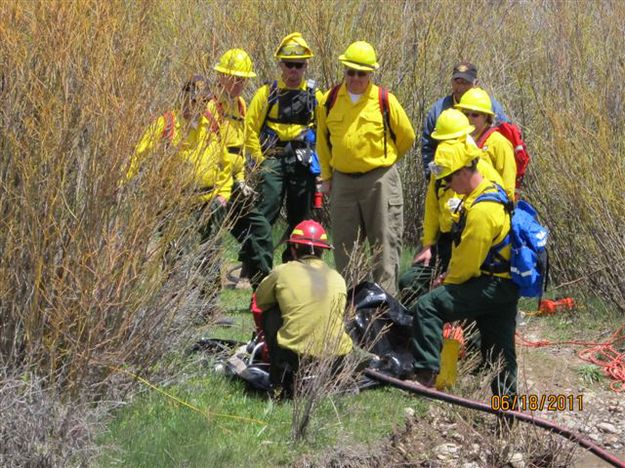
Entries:
<svg viewBox="0 0 625 468">
<path fill-rule="evenodd" d="M 190 183 L 198 190 L 198 201 L 208 202 L 217 195 L 225 199 L 230 197 L 229 180 L 232 179 L 230 163 L 223 156 L 222 146 L 205 115 L 200 116 L 195 123 L 182 118 L 181 113 L 172 111 L 173 131 L 165 132 L 168 125 L 165 115 L 160 116 L 145 131 L 135 153 L 130 161 L 126 179 L 130 180 L 137 175 L 146 158 L 160 144 L 168 144 L 175 148 L 181 168 L 188 171 Z M 204 192 L 205 190 L 205 192 Z"/>
</svg>

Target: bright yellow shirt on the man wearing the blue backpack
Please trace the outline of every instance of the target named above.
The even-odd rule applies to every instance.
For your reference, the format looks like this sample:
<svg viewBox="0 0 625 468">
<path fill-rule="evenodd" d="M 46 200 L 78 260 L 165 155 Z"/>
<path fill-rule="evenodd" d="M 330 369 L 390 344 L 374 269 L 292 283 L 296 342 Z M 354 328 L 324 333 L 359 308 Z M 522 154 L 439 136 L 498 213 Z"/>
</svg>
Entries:
<svg viewBox="0 0 625 468">
<path fill-rule="evenodd" d="M 454 243 L 451 260 L 445 277 L 445 284 L 462 284 L 471 278 L 481 276 L 481 266 L 493 245 L 501 242 L 510 231 L 510 215 L 501 203 L 483 201 L 473 204 L 482 193 L 496 192 L 496 187 L 487 179 L 466 196 L 463 202 L 465 226 L 460 243 Z M 501 256 L 510 259 L 510 245 L 503 248 Z M 510 272 L 495 276 L 510 278 Z"/>
</svg>

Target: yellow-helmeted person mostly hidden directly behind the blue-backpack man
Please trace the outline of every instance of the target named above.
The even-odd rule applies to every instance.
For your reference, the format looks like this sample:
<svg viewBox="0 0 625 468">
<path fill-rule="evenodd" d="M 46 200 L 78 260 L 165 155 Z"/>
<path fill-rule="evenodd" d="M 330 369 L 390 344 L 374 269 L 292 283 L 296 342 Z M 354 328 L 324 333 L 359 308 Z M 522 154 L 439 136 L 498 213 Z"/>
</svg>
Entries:
<svg viewBox="0 0 625 468">
<path fill-rule="evenodd" d="M 475 157 L 481 156 L 477 162 L 478 172 L 491 182 L 503 186 L 501 176 L 491 166 L 490 159 L 473 142 L 470 133 L 474 129 L 462 112 L 447 109 L 438 117 L 432 138 L 438 141 L 468 139 Z M 454 218 L 458 218 L 462 198 L 442 180 L 436 180 L 429 170 L 428 172 L 430 181 L 425 196 L 422 248 L 415 255 L 412 267 L 399 279 L 402 302 L 407 307 L 428 292 L 436 271 L 447 270 L 451 258 L 451 227 Z M 437 266 L 438 269 L 434 270 Z"/>
</svg>

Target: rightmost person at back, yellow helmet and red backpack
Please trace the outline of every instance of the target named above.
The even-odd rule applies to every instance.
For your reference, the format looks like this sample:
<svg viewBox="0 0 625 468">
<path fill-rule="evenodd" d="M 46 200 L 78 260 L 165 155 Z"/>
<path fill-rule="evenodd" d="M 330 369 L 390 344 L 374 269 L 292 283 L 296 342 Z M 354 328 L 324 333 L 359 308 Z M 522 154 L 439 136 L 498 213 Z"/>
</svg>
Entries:
<svg viewBox="0 0 625 468">
<path fill-rule="evenodd" d="M 514 200 L 516 187 L 516 160 L 512 143 L 501 133 L 494 130 L 495 112 L 490 96 L 482 88 L 471 88 L 462 95 L 454 106 L 462 111 L 475 129 L 471 136 L 479 148 L 482 148 L 490 163 L 501 176 L 503 188 L 511 200 Z"/>
</svg>

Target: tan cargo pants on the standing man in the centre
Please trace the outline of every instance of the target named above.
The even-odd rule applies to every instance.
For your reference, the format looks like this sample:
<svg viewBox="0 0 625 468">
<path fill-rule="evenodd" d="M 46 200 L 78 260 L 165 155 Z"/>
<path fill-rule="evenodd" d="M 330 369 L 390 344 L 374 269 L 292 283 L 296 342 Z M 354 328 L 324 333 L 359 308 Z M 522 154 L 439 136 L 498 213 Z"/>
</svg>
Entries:
<svg viewBox="0 0 625 468">
<path fill-rule="evenodd" d="M 396 294 L 404 232 L 404 198 L 397 168 L 380 167 L 364 174 L 334 171 L 330 220 L 334 261 L 347 283 L 353 283 L 356 276 L 348 268 L 350 257 L 366 239 L 373 253 L 373 280 Z"/>
</svg>

